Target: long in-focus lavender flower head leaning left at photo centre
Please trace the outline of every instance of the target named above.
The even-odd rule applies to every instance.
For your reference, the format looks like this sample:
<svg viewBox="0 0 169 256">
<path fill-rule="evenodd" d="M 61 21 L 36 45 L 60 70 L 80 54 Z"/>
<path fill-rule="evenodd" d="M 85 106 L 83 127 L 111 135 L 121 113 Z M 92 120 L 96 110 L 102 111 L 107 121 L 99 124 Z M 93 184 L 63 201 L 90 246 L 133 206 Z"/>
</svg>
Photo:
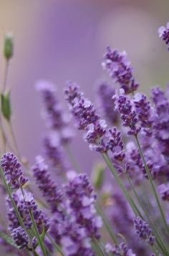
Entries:
<svg viewBox="0 0 169 256">
<path fill-rule="evenodd" d="M 84 98 L 79 92 L 79 87 L 74 83 L 68 83 L 65 90 L 69 108 L 77 120 L 78 128 L 86 132 L 84 139 L 90 143 L 90 148 L 100 152 L 106 152 L 104 135 L 107 124 L 96 113 L 95 106 L 89 99 Z"/>
</svg>

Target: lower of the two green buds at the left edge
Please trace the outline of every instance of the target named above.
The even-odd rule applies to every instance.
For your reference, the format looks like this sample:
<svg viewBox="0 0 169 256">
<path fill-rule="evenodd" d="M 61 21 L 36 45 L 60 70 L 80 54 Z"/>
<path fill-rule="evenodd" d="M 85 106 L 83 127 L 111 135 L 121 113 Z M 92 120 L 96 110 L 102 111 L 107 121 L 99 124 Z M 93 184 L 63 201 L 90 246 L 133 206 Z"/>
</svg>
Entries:
<svg viewBox="0 0 169 256">
<path fill-rule="evenodd" d="M 1 93 L 1 112 L 7 121 L 11 118 L 11 101 L 10 91 L 7 93 Z"/>
</svg>

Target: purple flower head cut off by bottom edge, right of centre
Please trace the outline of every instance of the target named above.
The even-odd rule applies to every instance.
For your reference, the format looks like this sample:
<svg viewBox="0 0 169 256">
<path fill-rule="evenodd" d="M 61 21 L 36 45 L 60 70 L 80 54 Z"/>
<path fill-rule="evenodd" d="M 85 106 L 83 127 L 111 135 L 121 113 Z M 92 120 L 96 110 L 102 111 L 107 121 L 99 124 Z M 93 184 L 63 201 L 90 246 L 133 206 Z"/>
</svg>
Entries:
<svg viewBox="0 0 169 256">
<path fill-rule="evenodd" d="M 109 255 L 113 256 L 135 256 L 135 253 L 133 253 L 124 242 L 120 243 L 118 246 L 115 245 L 115 247 L 112 247 L 111 244 L 106 244 L 105 250 Z"/>
</svg>

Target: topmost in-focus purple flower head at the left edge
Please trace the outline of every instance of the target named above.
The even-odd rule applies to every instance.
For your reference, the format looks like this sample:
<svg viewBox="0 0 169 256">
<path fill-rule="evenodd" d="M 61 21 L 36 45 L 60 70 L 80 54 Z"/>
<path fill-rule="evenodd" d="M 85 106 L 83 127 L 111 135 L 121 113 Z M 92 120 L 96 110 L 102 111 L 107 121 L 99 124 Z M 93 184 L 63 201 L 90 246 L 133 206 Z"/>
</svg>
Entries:
<svg viewBox="0 0 169 256">
<path fill-rule="evenodd" d="M 28 181 L 23 176 L 21 163 L 19 163 L 13 153 L 6 153 L 1 157 L 1 168 L 4 171 L 7 183 L 11 184 L 11 188 L 24 186 Z"/>
</svg>

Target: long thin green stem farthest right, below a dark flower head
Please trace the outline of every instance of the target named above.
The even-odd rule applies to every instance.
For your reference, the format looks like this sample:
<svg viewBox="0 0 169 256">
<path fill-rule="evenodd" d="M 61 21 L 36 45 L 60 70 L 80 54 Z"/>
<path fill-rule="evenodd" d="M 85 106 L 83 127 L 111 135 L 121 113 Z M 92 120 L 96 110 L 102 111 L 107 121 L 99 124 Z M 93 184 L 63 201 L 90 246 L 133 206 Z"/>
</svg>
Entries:
<svg viewBox="0 0 169 256">
<path fill-rule="evenodd" d="M 145 161 L 145 157 L 144 157 L 144 155 L 143 155 L 143 151 L 142 151 L 142 149 L 141 149 L 140 142 L 139 142 L 137 136 L 135 136 L 135 140 L 136 140 L 136 142 L 137 142 L 137 146 L 138 146 L 138 149 L 139 149 L 139 152 L 140 152 L 140 156 L 141 156 L 142 159 L 143 159 L 143 163 L 144 163 L 144 165 L 145 165 L 145 171 L 146 171 L 146 173 L 148 174 L 148 179 L 150 180 L 150 185 L 151 185 L 153 194 L 154 194 L 154 196 L 155 196 L 155 200 L 157 201 L 158 208 L 159 208 L 159 210 L 160 210 L 160 214 L 161 214 L 161 217 L 162 217 L 162 219 L 163 219 L 163 223 L 164 223 L 165 228 L 167 229 L 167 231 L 168 231 L 168 233 L 169 233 L 169 227 L 168 227 L 167 221 L 166 221 L 166 219 L 165 219 L 165 214 L 164 214 L 163 209 L 162 209 L 162 207 L 161 207 L 161 205 L 160 205 L 160 200 L 159 200 L 159 198 L 158 198 L 158 193 L 157 193 L 156 190 L 155 190 L 155 185 L 154 185 L 154 183 L 153 183 L 153 179 L 152 179 L 152 177 L 151 177 L 150 170 L 149 170 L 148 165 L 147 165 L 147 163 L 146 163 L 146 161 Z"/>
</svg>

